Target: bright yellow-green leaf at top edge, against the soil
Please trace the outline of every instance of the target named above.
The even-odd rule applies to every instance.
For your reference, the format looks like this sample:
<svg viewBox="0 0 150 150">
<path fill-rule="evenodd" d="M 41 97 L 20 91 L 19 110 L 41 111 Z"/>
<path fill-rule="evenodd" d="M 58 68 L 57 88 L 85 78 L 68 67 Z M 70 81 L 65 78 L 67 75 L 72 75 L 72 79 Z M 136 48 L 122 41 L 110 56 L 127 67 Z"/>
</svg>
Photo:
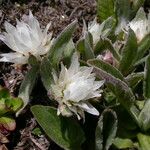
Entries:
<svg viewBox="0 0 150 150">
<path fill-rule="evenodd" d="M 97 15 L 101 21 L 114 16 L 114 0 L 98 0 Z"/>
</svg>

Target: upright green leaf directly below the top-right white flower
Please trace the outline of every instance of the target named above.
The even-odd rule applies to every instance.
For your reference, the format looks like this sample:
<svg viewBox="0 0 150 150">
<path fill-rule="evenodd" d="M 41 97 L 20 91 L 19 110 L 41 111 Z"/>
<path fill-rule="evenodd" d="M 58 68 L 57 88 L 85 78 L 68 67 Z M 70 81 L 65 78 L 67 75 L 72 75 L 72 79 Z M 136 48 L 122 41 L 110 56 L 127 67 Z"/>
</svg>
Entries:
<svg viewBox="0 0 150 150">
<path fill-rule="evenodd" d="M 133 66 L 133 60 L 137 54 L 137 40 L 131 29 L 128 31 L 126 43 L 122 51 L 122 59 L 120 61 L 119 69 L 124 75 L 127 75 Z"/>
</svg>

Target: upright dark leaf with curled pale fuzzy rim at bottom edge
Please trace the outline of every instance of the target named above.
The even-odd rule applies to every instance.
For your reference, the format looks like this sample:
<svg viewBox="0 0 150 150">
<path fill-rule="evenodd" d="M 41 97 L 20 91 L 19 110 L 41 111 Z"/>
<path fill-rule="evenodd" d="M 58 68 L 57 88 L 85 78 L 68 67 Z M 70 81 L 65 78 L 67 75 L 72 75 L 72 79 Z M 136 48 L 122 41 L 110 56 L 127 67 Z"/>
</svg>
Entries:
<svg viewBox="0 0 150 150">
<path fill-rule="evenodd" d="M 117 132 L 117 116 L 110 109 L 105 110 L 96 128 L 96 150 L 108 150 Z"/>
</svg>

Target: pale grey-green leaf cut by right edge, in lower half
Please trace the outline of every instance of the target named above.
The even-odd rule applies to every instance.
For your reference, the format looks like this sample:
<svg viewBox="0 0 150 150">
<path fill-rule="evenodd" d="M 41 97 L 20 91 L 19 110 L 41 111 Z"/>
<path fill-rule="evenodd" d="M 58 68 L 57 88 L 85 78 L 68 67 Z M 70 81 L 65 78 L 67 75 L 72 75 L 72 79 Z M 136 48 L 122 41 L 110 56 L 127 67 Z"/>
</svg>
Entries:
<svg viewBox="0 0 150 150">
<path fill-rule="evenodd" d="M 146 131 L 150 128 L 150 99 L 145 102 L 142 111 L 139 114 L 139 125 Z"/>
</svg>

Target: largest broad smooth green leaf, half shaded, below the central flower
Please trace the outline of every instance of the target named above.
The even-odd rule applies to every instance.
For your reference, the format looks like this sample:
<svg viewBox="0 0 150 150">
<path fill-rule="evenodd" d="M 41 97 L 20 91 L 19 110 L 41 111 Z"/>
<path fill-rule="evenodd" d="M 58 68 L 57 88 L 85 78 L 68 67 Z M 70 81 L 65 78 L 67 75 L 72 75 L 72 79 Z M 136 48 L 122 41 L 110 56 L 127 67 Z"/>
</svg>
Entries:
<svg viewBox="0 0 150 150">
<path fill-rule="evenodd" d="M 84 133 L 79 124 L 66 117 L 57 115 L 56 109 L 36 105 L 31 111 L 47 136 L 65 150 L 80 150 Z"/>
</svg>

